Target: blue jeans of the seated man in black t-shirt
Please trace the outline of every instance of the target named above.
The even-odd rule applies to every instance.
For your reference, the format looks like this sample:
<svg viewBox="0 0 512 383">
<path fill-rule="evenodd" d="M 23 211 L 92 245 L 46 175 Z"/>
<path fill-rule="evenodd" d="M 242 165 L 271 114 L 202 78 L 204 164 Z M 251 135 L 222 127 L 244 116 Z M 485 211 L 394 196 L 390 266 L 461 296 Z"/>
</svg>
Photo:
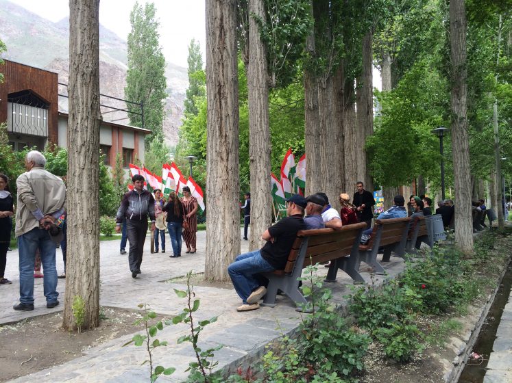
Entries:
<svg viewBox="0 0 512 383">
<path fill-rule="evenodd" d="M 252 291 L 260 286 L 258 278 L 254 274 L 272 272 L 275 270 L 270 263 L 261 256 L 260 250 L 240 254 L 234 259 L 234 262 L 228 267 L 236 293 L 242 298 L 242 302 L 247 304 L 247 298 Z"/>
</svg>

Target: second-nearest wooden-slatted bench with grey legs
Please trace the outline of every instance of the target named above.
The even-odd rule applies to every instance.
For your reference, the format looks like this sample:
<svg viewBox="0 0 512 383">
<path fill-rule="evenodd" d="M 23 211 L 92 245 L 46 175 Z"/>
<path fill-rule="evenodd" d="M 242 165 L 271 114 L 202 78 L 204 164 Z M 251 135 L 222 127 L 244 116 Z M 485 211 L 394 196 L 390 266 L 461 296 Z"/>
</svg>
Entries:
<svg viewBox="0 0 512 383">
<path fill-rule="evenodd" d="M 361 262 L 365 262 L 373 267 L 375 274 L 386 274 L 385 269 L 377 261 L 377 253 L 379 249 L 384 252 L 382 256 L 384 262 L 389 262 L 391 252 L 402 256 L 409 233 L 409 222 L 409 217 L 375 220 L 369 242 L 359 246 L 357 269 Z"/>
</svg>

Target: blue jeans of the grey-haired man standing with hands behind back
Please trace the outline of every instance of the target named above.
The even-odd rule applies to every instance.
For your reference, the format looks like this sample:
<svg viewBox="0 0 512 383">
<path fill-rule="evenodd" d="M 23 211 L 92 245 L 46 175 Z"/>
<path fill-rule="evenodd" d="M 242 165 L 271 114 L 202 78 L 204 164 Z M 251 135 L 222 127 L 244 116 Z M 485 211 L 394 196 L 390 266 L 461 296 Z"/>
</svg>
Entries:
<svg viewBox="0 0 512 383">
<path fill-rule="evenodd" d="M 34 304 L 34 262 L 36 249 L 41 252 L 42 267 L 45 269 L 43 287 L 47 303 L 57 301 L 57 267 L 55 261 L 56 244 L 50 239 L 47 230 L 33 228 L 18 237 L 20 258 L 20 302 Z"/>
</svg>

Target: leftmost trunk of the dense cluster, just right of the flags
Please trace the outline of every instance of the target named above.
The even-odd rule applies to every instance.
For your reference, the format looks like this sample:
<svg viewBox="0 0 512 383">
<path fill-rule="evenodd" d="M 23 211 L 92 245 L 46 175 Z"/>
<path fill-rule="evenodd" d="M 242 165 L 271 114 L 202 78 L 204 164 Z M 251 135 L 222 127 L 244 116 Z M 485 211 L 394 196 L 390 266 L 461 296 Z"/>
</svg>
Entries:
<svg viewBox="0 0 512 383">
<path fill-rule="evenodd" d="M 313 4 L 310 9 L 313 12 Z M 306 38 L 306 51 L 315 57 L 315 31 L 312 27 Z M 315 71 L 304 68 L 304 141 L 306 144 L 306 196 L 321 192 L 321 174 L 313 171 L 320 163 L 320 131 L 318 82 Z"/>
</svg>

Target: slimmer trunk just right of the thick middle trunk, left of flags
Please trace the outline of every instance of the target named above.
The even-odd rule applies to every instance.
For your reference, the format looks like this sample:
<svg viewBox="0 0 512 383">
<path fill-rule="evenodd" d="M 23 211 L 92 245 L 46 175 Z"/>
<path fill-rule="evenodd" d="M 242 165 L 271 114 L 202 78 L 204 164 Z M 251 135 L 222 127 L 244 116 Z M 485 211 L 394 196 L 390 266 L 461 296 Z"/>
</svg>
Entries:
<svg viewBox="0 0 512 383">
<path fill-rule="evenodd" d="M 262 233 L 271 224 L 270 129 L 267 52 L 256 18 L 265 20 L 263 0 L 249 0 L 249 161 L 251 172 L 251 231 L 249 251 L 263 247 Z"/>
</svg>

